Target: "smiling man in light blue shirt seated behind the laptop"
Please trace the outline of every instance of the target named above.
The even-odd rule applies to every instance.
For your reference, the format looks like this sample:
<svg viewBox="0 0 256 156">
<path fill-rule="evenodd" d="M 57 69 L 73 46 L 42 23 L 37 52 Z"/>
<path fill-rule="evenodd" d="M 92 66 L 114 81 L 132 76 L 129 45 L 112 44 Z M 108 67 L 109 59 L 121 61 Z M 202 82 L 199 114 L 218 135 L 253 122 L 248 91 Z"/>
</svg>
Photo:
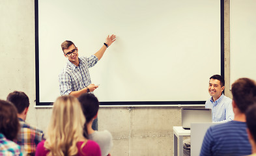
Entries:
<svg viewBox="0 0 256 156">
<path fill-rule="evenodd" d="M 221 75 L 210 77 L 208 92 L 211 97 L 205 102 L 205 109 L 212 109 L 212 122 L 224 123 L 234 120 L 232 99 L 224 96 L 224 88 L 225 81 Z M 183 153 L 190 155 L 190 138 L 184 140 Z"/>
</svg>

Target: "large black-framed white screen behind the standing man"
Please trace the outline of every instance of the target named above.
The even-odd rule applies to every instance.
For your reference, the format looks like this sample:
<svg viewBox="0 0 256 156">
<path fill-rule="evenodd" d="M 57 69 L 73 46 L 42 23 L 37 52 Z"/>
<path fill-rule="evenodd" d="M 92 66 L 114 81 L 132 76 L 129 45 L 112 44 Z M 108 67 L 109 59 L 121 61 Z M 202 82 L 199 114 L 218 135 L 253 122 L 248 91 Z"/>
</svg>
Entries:
<svg viewBox="0 0 256 156">
<path fill-rule="evenodd" d="M 108 34 L 117 40 L 90 68 L 100 101 L 205 101 L 220 74 L 220 1 L 38 1 L 39 102 L 60 96 L 66 64 L 61 43 L 79 56 L 96 53 Z"/>
</svg>

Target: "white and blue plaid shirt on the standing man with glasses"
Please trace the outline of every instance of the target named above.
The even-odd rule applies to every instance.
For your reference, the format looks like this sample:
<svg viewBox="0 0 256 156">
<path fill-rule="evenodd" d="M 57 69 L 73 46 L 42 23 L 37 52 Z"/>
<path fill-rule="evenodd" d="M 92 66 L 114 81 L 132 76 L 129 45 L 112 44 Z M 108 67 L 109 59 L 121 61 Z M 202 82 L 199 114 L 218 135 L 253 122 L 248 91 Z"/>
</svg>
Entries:
<svg viewBox="0 0 256 156">
<path fill-rule="evenodd" d="M 59 89 L 61 96 L 68 95 L 72 91 L 78 91 L 91 84 L 89 68 L 98 62 L 95 55 L 80 57 L 79 66 L 75 66 L 68 60 L 63 71 L 59 74 Z"/>
</svg>

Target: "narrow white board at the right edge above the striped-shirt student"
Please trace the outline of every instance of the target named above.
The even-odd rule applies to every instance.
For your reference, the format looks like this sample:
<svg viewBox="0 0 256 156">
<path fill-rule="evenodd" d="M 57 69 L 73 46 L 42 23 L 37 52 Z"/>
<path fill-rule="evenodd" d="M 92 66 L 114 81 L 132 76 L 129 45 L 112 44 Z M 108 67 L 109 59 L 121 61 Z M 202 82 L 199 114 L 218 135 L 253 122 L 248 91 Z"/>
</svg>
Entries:
<svg viewBox="0 0 256 156">
<path fill-rule="evenodd" d="M 256 79 L 256 1 L 230 1 L 230 84 Z"/>
</svg>

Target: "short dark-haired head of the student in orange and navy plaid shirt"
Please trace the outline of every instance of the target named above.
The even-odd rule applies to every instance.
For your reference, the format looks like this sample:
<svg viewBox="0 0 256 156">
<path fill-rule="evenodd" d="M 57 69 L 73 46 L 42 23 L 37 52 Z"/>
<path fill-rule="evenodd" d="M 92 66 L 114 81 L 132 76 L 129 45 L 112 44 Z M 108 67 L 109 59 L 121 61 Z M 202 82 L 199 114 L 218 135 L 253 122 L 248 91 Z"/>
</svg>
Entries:
<svg viewBox="0 0 256 156">
<path fill-rule="evenodd" d="M 18 110 L 18 113 L 21 114 L 23 110 L 29 107 L 29 97 L 24 92 L 14 91 L 7 96 L 7 101 L 13 103 Z"/>
</svg>

